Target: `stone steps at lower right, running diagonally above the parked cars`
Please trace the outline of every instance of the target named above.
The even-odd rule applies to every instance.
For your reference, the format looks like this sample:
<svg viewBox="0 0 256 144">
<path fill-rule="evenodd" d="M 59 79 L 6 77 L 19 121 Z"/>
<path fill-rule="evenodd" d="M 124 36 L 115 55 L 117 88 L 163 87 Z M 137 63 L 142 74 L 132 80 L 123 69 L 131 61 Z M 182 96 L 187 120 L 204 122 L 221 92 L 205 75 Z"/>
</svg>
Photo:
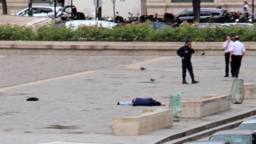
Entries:
<svg viewBox="0 0 256 144">
<path fill-rule="evenodd" d="M 156 142 L 154 144 L 162 144 L 164 142 L 168 142 L 168 141 L 175 140 L 175 139 L 179 139 L 179 140 L 176 140 L 175 143 L 171 143 L 171 144 L 181 144 L 183 142 L 194 141 L 194 140 L 197 140 L 197 139 L 200 139 L 200 138 L 203 138 L 203 137 L 210 136 L 214 132 L 217 132 L 218 130 L 225 130 L 225 129 L 231 129 L 231 128 L 238 127 L 239 124 L 242 123 L 242 121 L 239 121 L 239 122 L 236 122 L 236 123 L 232 123 L 232 122 L 235 122 L 237 120 L 241 120 L 243 118 L 253 116 L 255 114 L 256 114 L 256 110 L 253 110 L 253 111 L 243 113 L 243 114 L 240 114 L 240 115 L 237 115 L 237 116 L 226 118 L 224 120 L 218 120 L 218 121 L 215 121 L 213 123 L 203 125 L 201 127 L 193 128 L 193 129 L 187 130 L 185 132 L 180 132 L 178 134 L 171 135 L 171 136 L 166 137 L 165 139 L 162 139 L 161 141 Z M 229 123 L 231 123 L 231 124 L 229 124 Z M 227 124 L 227 125 L 225 125 L 225 124 Z M 214 128 L 214 127 L 218 127 L 218 126 L 221 126 L 221 125 L 225 125 L 225 126 L 220 127 L 218 129 L 213 129 L 209 132 L 203 132 L 204 130 L 211 129 L 211 128 Z M 195 136 L 192 136 L 192 137 L 187 137 L 187 136 L 193 135 L 195 133 L 199 133 L 199 132 L 202 132 L 202 133 L 198 134 L 198 135 L 195 135 Z"/>
</svg>

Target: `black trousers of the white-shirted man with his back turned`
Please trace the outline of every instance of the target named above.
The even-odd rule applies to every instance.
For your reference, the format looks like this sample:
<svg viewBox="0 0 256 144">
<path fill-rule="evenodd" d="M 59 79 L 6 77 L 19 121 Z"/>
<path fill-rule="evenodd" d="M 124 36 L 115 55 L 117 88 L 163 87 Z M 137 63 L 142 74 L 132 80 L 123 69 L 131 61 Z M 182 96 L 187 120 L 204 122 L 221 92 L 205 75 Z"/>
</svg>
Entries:
<svg viewBox="0 0 256 144">
<path fill-rule="evenodd" d="M 231 69 L 231 73 L 232 73 L 232 77 L 236 77 L 238 78 L 238 74 L 239 74 L 239 69 L 241 66 L 241 61 L 242 61 L 242 56 L 240 55 L 232 55 L 232 69 Z"/>
</svg>

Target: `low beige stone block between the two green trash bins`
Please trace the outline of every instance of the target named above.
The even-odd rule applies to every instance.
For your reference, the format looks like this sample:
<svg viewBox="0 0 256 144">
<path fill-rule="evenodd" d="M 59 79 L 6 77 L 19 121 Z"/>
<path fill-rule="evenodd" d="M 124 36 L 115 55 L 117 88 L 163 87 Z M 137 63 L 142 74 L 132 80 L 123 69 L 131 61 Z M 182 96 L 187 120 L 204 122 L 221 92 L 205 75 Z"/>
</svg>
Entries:
<svg viewBox="0 0 256 144">
<path fill-rule="evenodd" d="M 181 118 L 201 118 L 230 108 L 230 95 L 204 95 L 203 99 L 181 101 Z"/>
</svg>

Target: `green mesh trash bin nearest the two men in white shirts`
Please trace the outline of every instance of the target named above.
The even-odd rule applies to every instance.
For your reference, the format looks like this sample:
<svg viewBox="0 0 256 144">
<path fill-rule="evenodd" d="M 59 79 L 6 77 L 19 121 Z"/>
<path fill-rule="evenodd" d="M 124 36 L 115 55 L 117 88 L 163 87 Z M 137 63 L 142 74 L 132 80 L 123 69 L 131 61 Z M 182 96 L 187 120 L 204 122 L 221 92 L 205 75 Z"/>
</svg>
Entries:
<svg viewBox="0 0 256 144">
<path fill-rule="evenodd" d="M 234 78 L 231 89 L 231 102 L 242 104 L 244 100 L 244 80 Z"/>
</svg>

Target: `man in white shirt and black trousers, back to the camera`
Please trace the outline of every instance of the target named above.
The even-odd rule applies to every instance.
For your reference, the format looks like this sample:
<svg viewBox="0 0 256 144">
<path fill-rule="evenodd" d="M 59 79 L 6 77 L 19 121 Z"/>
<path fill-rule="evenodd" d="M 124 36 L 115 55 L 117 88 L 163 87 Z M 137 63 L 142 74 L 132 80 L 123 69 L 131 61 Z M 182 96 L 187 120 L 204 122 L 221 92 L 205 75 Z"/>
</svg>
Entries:
<svg viewBox="0 0 256 144">
<path fill-rule="evenodd" d="M 244 44 L 239 41 L 239 36 L 235 36 L 235 42 L 233 42 L 230 49 L 230 62 L 232 61 L 232 77 L 238 78 L 239 69 L 241 66 L 242 57 L 244 57 L 245 48 Z"/>
</svg>

